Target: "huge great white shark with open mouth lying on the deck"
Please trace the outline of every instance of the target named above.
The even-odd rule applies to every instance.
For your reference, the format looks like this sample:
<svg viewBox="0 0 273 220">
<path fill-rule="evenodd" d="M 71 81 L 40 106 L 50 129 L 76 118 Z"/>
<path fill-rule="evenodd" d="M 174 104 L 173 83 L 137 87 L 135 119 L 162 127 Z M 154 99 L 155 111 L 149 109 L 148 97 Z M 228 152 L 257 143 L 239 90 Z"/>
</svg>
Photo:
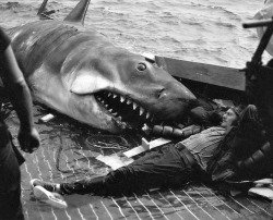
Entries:
<svg viewBox="0 0 273 220">
<path fill-rule="evenodd" d="M 64 21 L 37 21 L 9 32 L 34 99 L 111 133 L 128 124 L 181 119 L 195 96 L 141 54 L 84 28 L 88 4 L 79 2 Z"/>
</svg>

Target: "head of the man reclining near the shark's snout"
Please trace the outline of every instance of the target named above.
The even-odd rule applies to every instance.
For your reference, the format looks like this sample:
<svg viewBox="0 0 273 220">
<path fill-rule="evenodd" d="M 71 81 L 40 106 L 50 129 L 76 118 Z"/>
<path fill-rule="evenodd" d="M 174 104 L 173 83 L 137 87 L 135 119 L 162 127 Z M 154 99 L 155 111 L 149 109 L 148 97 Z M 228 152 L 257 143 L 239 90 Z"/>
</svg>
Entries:
<svg viewBox="0 0 273 220">
<path fill-rule="evenodd" d="M 229 129 L 233 125 L 237 125 L 242 109 L 244 108 L 241 106 L 229 108 L 223 115 L 221 126 Z"/>
</svg>

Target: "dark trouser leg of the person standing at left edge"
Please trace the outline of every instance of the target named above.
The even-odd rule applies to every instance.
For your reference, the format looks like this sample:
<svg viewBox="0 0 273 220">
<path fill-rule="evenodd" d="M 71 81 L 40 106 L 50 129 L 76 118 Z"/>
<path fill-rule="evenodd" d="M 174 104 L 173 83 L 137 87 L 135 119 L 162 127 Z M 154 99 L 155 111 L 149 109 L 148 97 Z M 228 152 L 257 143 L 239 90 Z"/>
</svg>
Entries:
<svg viewBox="0 0 273 220">
<path fill-rule="evenodd" d="M 1 135 L 5 134 L 1 133 Z M 11 140 L 8 140 L 5 146 L 1 146 L 0 158 L 0 219 L 23 220 L 21 173 Z"/>
</svg>

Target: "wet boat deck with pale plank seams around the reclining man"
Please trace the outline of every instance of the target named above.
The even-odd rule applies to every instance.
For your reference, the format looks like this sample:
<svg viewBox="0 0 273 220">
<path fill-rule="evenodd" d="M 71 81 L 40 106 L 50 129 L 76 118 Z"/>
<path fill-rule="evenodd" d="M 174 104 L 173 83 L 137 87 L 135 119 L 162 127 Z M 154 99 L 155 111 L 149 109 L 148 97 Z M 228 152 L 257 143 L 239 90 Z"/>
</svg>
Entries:
<svg viewBox="0 0 273 220">
<path fill-rule="evenodd" d="M 99 139 L 92 144 L 92 131 L 78 122 L 58 115 L 51 121 L 39 122 L 48 111 L 35 106 L 35 121 L 40 132 L 41 146 L 34 154 L 24 154 L 26 162 L 22 170 L 22 204 L 26 220 L 92 220 L 92 219 L 272 219 L 270 200 L 254 197 L 224 196 L 206 184 L 190 184 L 179 190 L 149 192 L 130 197 L 97 197 L 91 195 L 64 196 L 67 209 L 59 209 L 36 200 L 29 181 L 41 179 L 60 182 L 84 176 L 105 174 L 109 168 L 96 160 L 99 154 L 118 154 L 128 147 L 138 146 L 132 135 L 119 136 L 126 140 L 119 148 L 114 140 L 108 148 L 99 148 Z M 17 119 L 14 111 L 8 112 L 7 123 L 14 142 L 17 134 Z M 16 144 L 16 142 L 15 142 Z M 119 143 L 120 145 L 120 143 Z"/>
</svg>

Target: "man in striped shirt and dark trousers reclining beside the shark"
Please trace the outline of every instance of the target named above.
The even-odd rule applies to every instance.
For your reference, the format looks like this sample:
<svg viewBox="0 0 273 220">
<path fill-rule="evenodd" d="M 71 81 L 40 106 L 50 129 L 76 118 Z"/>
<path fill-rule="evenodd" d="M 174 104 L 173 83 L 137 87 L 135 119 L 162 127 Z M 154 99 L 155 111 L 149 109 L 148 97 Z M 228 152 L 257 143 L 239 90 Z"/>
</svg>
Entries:
<svg viewBox="0 0 273 220">
<path fill-rule="evenodd" d="M 67 195 L 110 196 L 178 186 L 191 180 L 200 181 L 203 176 L 213 181 L 252 178 L 257 173 L 251 170 L 246 172 L 245 160 L 264 144 L 258 125 L 254 106 L 248 106 L 244 111 L 230 108 L 223 115 L 219 126 L 204 130 L 176 145 L 150 151 L 105 176 L 60 184 L 34 179 L 31 184 Z M 260 174 L 263 172 L 260 171 Z"/>
</svg>

